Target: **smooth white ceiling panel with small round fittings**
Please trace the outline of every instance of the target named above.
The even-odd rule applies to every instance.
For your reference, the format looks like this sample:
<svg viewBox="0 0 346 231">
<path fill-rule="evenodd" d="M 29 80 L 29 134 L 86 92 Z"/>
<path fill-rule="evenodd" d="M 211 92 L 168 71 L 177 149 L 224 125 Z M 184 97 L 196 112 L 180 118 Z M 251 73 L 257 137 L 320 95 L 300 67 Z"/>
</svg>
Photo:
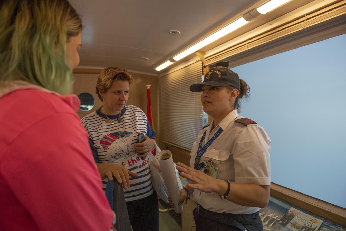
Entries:
<svg viewBox="0 0 346 231">
<path fill-rule="evenodd" d="M 79 67 L 118 66 L 130 71 L 158 75 L 165 70 L 157 72 L 154 67 L 242 11 L 252 9 L 250 7 L 258 0 L 70 2 L 82 16 L 84 25 Z M 301 5 L 309 0 L 298 2 Z M 292 9 L 297 7 L 294 3 L 289 6 Z M 275 18 L 277 15 L 274 13 L 271 17 Z M 257 24 L 260 25 L 261 20 L 252 23 L 252 28 Z M 179 30 L 181 34 L 169 34 L 168 31 L 172 29 Z M 224 41 L 225 39 L 228 38 L 223 38 Z M 214 45 L 224 41 L 220 39 Z M 144 61 L 141 57 L 149 60 Z"/>
</svg>

